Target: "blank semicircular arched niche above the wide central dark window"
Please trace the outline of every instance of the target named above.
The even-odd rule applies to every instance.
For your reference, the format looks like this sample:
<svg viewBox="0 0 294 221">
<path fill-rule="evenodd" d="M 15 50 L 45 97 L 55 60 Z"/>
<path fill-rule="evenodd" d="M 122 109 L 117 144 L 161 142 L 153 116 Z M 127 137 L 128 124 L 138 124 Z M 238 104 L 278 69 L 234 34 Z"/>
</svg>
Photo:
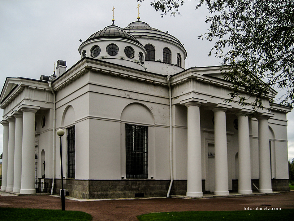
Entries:
<svg viewBox="0 0 294 221">
<path fill-rule="evenodd" d="M 121 113 L 122 122 L 154 125 L 154 116 L 150 109 L 140 103 L 128 104 Z"/>
</svg>

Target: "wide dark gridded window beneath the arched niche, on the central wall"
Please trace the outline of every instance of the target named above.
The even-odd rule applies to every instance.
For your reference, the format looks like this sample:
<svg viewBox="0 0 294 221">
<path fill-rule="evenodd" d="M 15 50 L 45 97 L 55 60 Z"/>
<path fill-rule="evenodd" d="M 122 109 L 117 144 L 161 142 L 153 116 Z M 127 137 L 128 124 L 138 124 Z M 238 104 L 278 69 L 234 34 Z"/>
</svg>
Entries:
<svg viewBox="0 0 294 221">
<path fill-rule="evenodd" d="M 148 178 L 147 127 L 126 124 L 126 178 Z"/>
</svg>

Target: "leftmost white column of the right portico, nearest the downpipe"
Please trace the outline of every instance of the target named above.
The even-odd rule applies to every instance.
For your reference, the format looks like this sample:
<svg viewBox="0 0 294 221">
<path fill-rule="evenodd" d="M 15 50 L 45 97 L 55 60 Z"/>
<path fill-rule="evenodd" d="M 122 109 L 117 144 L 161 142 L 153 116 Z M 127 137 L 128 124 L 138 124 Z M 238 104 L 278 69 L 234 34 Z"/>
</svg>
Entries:
<svg viewBox="0 0 294 221">
<path fill-rule="evenodd" d="M 202 197 L 200 102 L 188 102 L 187 197 Z"/>
</svg>

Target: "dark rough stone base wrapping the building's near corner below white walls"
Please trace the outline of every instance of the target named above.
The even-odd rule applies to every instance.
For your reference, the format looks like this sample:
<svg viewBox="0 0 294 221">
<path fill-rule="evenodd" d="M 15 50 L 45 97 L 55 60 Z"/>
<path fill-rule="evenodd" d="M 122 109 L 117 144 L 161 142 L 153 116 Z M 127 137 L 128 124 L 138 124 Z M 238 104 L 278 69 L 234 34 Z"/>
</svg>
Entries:
<svg viewBox="0 0 294 221">
<path fill-rule="evenodd" d="M 78 180 L 64 179 L 63 188 L 71 197 L 82 199 L 115 199 L 135 197 L 166 197 L 170 180 L 123 179 Z M 205 191 L 205 180 L 202 180 Z M 59 193 L 61 179 L 55 179 L 54 192 Z M 186 195 L 187 180 L 174 180 L 170 195 Z M 205 192 L 204 192 L 205 193 Z"/>
</svg>

